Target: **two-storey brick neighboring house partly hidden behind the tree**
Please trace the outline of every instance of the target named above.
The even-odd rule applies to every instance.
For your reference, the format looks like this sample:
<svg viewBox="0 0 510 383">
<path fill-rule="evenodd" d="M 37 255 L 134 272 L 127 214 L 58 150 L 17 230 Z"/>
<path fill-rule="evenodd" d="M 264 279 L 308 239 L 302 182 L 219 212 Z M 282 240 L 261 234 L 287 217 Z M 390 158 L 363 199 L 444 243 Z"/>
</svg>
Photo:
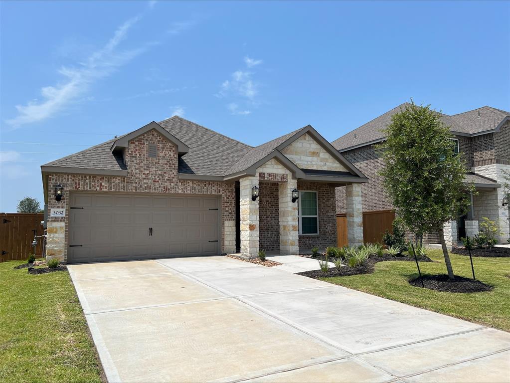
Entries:
<svg viewBox="0 0 510 383">
<path fill-rule="evenodd" d="M 379 175 L 383 164 L 375 145 L 384 141 L 382 130 L 391 122 L 391 116 L 404 109 L 405 105 L 399 105 L 332 142 L 333 146 L 370 180 L 362 186 L 365 214 L 393 210 L 382 177 Z M 441 114 L 441 119 L 450 127 L 456 142 L 455 151 L 460 153 L 462 161 L 466 164 L 465 182 L 474 183 L 478 192 L 472 196 L 471 208 L 467 215 L 445 226 L 446 242 L 451 246 L 461 237 L 475 235 L 482 217 L 497 222 L 503 233 L 500 241 L 506 242 L 508 215 L 502 206 L 501 171 L 510 170 L 510 113 L 482 107 L 452 116 Z M 338 214 L 345 213 L 344 189 L 337 189 Z M 364 217 L 367 220 L 370 216 Z M 424 235 L 423 240 L 428 244 L 439 243 L 439 235 L 428 233 Z"/>
</svg>

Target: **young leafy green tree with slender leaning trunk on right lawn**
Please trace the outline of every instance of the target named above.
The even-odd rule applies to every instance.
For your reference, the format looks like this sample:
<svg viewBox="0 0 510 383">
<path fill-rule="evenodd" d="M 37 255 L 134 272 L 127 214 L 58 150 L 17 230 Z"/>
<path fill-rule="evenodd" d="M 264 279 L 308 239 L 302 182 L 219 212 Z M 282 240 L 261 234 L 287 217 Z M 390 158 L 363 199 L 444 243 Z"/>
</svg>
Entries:
<svg viewBox="0 0 510 383">
<path fill-rule="evenodd" d="M 443 226 L 467 211 L 470 197 L 463 184 L 466 168 L 454 153 L 450 130 L 430 106 L 411 100 L 392 116 L 384 133 L 386 141 L 379 147 L 386 191 L 412 232 L 439 232 L 448 276 L 454 279 Z"/>
</svg>

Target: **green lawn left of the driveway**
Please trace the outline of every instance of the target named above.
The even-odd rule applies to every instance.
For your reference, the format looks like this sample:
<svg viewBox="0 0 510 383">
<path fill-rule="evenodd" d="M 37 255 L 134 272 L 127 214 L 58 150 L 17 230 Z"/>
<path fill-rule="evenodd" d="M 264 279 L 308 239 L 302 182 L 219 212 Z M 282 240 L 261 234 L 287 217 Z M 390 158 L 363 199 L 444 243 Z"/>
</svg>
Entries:
<svg viewBox="0 0 510 383">
<path fill-rule="evenodd" d="M 0 381 L 102 381 L 67 272 L 29 275 L 0 263 Z"/>
</svg>

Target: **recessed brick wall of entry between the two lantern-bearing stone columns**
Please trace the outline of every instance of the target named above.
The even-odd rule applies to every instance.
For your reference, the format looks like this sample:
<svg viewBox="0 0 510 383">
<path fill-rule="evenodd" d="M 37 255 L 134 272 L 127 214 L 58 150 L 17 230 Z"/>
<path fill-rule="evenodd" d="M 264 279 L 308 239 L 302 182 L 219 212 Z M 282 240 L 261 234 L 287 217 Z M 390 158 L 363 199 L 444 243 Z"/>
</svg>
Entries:
<svg viewBox="0 0 510 383">
<path fill-rule="evenodd" d="M 278 183 L 259 181 L 259 248 L 261 250 L 280 249 L 278 208 Z"/>
</svg>

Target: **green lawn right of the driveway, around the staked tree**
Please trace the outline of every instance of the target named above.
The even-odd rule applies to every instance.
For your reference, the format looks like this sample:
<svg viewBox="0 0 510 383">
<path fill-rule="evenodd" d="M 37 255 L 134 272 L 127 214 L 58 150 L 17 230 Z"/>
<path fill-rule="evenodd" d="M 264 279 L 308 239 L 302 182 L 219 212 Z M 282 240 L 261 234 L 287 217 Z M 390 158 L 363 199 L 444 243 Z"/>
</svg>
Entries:
<svg viewBox="0 0 510 383">
<path fill-rule="evenodd" d="M 435 263 L 420 262 L 422 274 L 446 274 L 443 253 L 431 250 Z M 450 254 L 455 275 L 471 278 L 469 257 Z M 407 280 L 418 276 L 416 263 L 387 261 L 375 264 L 373 274 L 321 278 L 326 282 L 411 304 L 472 322 L 510 331 L 510 258 L 473 258 L 476 279 L 494 290 L 461 294 L 414 287 Z"/>
</svg>

